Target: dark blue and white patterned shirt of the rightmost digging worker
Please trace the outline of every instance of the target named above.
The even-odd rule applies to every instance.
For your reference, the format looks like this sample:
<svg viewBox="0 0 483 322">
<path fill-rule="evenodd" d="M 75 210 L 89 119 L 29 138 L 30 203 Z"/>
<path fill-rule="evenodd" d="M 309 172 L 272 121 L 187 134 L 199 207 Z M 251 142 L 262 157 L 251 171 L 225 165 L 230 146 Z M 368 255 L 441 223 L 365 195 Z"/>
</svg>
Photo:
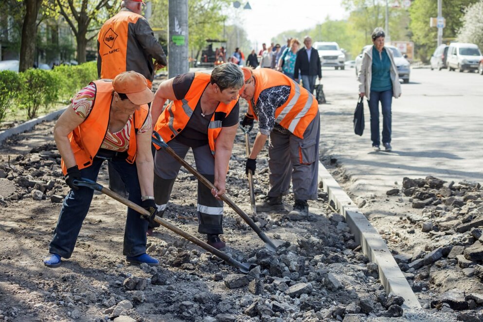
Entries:
<svg viewBox="0 0 483 322">
<path fill-rule="evenodd" d="M 284 105 L 290 94 L 290 86 L 281 85 L 262 90 L 255 105 L 251 100 L 253 112 L 258 118 L 258 130 L 260 133 L 269 135 L 274 129 L 280 130 L 281 126 L 275 124 L 275 110 Z"/>
</svg>

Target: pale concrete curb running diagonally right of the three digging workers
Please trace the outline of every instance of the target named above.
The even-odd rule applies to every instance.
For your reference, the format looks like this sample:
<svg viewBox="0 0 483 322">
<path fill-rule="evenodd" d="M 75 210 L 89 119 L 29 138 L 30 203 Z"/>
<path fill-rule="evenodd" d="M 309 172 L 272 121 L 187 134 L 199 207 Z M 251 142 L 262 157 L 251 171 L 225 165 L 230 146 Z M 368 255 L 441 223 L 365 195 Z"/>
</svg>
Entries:
<svg viewBox="0 0 483 322">
<path fill-rule="evenodd" d="M 388 294 L 392 292 L 404 298 L 404 306 L 408 308 L 421 308 L 421 304 L 384 240 L 320 161 L 319 181 L 322 181 L 323 190 L 328 194 L 329 200 L 334 202 L 340 215 L 345 217 L 364 255 L 379 267 L 379 278 L 386 292 Z"/>
</svg>

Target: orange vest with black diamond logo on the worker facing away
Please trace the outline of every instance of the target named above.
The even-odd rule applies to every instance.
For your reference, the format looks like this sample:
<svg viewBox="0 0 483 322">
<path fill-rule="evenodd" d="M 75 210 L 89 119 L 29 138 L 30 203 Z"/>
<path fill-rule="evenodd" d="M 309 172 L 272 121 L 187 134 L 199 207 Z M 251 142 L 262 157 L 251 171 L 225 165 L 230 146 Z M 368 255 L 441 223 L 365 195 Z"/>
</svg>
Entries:
<svg viewBox="0 0 483 322">
<path fill-rule="evenodd" d="M 143 16 L 129 10 L 120 11 L 102 26 L 97 35 L 99 55 L 102 57 L 102 79 L 114 79 L 120 73 L 126 72 L 128 27 L 130 23 L 135 24 L 139 18 L 143 18 Z M 109 58 L 104 59 L 106 56 Z M 143 59 L 143 57 L 132 57 L 131 59 Z M 151 81 L 147 78 L 146 80 L 151 89 Z"/>
</svg>

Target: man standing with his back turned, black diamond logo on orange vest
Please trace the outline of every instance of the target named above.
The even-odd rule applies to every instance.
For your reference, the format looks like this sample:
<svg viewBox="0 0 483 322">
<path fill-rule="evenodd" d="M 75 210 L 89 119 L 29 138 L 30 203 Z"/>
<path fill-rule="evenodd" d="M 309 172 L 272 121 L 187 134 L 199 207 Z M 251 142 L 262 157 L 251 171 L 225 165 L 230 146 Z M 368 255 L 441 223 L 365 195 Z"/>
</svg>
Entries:
<svg viewBox="0 0 483 322">
<path fill-rule="evenodd" d="M 123 0 L 121 11 L 108 19 L 97 36 L 97 73 L 114 79 L 119 73 L 141 73 L 151 88 L 157 69 L 166 65 L 166 55 L 149 22 L 141 16 L 142 0 Z M 155 62 L 153 62 L 153 59 Z M 108 165 L 109 188 L 125 196 L 124 183 Z"/>
</svg>

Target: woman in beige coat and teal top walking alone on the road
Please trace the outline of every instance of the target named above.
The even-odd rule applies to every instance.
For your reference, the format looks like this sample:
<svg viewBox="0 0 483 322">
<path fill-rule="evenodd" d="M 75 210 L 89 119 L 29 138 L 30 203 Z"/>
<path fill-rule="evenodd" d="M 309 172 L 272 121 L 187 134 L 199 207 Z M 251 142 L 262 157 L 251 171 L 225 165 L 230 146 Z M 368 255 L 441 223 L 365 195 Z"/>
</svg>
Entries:
<svg viewBox="0 0 483 322">
<path fill-rule="evenodd" d="M 384 46 L 384 30 L 380 27 L 372 33 L 373 46 L 362 54 L 360 67 L 359 96 L 367 97 L 371 113 L 371 141 L 375 151 L 380 151 L 379 102 L 382 109 L 382 144 L 386 151 L 391 151 L 393 97 L 401 96 L 401 84 L 394 55 Z"/>
</svg>

